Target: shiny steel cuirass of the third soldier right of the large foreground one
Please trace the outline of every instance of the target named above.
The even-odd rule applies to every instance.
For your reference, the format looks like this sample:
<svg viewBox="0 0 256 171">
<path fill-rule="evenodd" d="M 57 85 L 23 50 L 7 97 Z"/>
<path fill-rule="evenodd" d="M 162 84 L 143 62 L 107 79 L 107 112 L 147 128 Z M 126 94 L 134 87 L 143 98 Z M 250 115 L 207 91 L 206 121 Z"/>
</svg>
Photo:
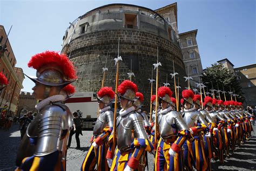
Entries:
<svg viewBox="0 0 256 171">
<path fill-rule="evenodd" d="M 177 135 L 180 130 L 188 130 L 188 127 L 177 111 L 158 114 L 159 132 L 161 138 L 168 138 L 171 135 Z"/>
</svg>

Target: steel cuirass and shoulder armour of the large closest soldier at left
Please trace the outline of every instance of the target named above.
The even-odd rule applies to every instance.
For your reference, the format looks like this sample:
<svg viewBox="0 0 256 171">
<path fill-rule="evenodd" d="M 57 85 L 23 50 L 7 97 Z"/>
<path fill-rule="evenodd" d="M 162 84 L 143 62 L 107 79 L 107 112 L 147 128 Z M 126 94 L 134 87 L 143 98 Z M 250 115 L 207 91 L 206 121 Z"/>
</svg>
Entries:
<svg viewBox="0 0 256 171">
<path fill-rule="evenodd" d="M 62 131 L 73 125 L 69 108 L 61 102 L 46 105 L 26 130 L 29 138 L 36 138 L 35 156 L 44 156 L 66 148 L 68 136 L 60 137 Z"/>
</svg>

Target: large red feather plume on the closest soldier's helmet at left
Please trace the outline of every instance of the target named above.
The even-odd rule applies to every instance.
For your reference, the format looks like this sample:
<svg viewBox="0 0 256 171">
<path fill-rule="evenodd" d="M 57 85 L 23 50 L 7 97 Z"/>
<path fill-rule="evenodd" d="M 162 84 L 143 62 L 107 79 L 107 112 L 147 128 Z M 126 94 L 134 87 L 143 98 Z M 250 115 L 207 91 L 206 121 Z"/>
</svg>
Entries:
<svg viewBox="0 0 256 171">
<path fill-rule="evenodd" d="M 76 79 L 76 71 L 73 63 L 69 60 L 66 54 L 59 54 L 55 51 L 45 51 L 37 53 L 31 57 L 28 66 L 39 70 L 44 65 L 55 65 L 62 69 L 67 79 Z"/>
</svg>

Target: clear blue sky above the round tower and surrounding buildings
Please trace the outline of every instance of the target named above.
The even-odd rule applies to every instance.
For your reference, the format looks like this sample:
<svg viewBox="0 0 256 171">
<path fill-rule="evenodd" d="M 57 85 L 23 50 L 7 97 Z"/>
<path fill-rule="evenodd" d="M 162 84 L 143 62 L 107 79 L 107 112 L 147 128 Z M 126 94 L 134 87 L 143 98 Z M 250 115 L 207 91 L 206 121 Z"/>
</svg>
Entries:
<svg viewBox="0 0 256 171">
<path fill-rule="evenodd" d="M 11 1 L 0 0 L 0 24 L 6 32 L 18 67 L 35 76 L 26 65 L 30 57 L 45 50 L 60 51 L 69 22 L 98 6 L 127 3 L 158 9 L 177 2 L 179 33 L 198 29 L 197 43 L 203 68 L 228 58 L 235 67 L 256 63 L 256 1 Z M 22 91 L 32 92 L 25 79 Z"/>
</svg>

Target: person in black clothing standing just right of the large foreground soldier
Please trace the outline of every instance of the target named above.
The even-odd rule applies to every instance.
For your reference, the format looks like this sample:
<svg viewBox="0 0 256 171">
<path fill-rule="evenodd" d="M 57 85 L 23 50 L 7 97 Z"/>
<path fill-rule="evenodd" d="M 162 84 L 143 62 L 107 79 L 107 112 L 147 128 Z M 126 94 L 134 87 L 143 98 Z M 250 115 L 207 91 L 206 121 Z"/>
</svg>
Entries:
<svg viewBox="0 0 256 171">
<path fill-rule="evenodd" d="M 83 135 L 82 134 L 82 127 L 81 127 L 81 124 L 80 124 L 81 119 L 79 118 L 77 112 L 73 112 L 73 117 L 74 117 L 73 118 L 73 127 L 70 131 L 70 134 L 69 134 L 68 148 L 71 145 L 71 140 L 72 140 L 73 134 L 76 134 L 76 141 L 77 141 L 77 147 L 76 148 L 80 148 L 79 134 Z"/>
</svg>

